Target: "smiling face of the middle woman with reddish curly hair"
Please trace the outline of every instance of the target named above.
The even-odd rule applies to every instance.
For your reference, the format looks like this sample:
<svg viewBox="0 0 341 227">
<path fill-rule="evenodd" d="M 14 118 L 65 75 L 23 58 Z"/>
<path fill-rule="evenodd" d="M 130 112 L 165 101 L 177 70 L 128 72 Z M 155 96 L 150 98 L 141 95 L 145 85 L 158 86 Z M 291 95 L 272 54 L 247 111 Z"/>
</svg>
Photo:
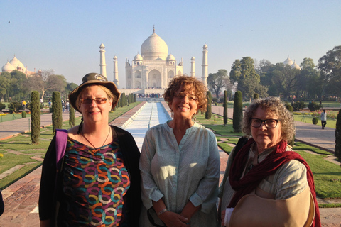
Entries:
<svg viewBox="0 0 341 227">
<path fill-rule="evenodd" d="M 191 119 L 197 113 L 197 97 L 190 85 L 175 92 L 170 103 L 174 118 Z"/>
</svg>

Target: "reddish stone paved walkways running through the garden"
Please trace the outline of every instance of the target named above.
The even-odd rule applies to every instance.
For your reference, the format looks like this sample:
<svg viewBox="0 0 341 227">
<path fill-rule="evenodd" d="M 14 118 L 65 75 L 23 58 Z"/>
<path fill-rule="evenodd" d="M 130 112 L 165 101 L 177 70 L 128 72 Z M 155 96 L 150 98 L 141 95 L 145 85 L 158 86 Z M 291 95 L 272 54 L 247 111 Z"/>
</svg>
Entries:
<svg viewBox="0 0 341 227">
<path fill-rule="evenodd" d="M 120 127 L 124 126 L 124 123 L 129 120 L 129 118 L 131 118 L 143 105 L 144 103 L 139 104 L 139 106 L 136 106 L 131 111 L 128 111 L 126 114 L 124 114 L 124 116 L 121 116 L 114 120 L 112 124 Z M 168 108 L 167 105 L 164 104 L 164 106 Z M 222 109 L 216 109 L 215 106 L 213 106 L 212 111 L 217 114 L 222 114 Z M 229 110 L 229 116 L 232 116 L 232 110 Z M 43 117 L 45 116 L 43 115 L 42 118 Z M 51 124 L 50 119 L 51 117 L 48 117 L 46 115 L 46 119 L 44 121 L 42 120 L 42 122 L 45 122 L 45 126 Z M 68 120 L 67 113 L 63 115 L 63 119 Z M 25 121 L 20 120 L 21 119 L 11 121 L 11 123 L 6 123 L 6 125 L 2 125 L 2 123 L 0 123 L 0 133 L 3 133 L 0 134 L 0 140 L 4 138 L 10 138 L 11 136 L 23 131 L 28 131 L 27 119 Z M 335 132 L 335 130 L 328 128 L 325 128 L 325 130 L 321 130 L 319 128 L 310 128 L 312 125 L 308 123 L 297 123 L 296 126 L 296 139 L 308 140 L 308 138 L 312 138 L 313 136 L 315 136 L 311 140 L 311 143 L 315 143 L 315 145 L 318 145 L 320 147 L 325 146 L 325 149 L 331 149 L 328 148 L 328 143 L 332 144 L 332 142 L 335 140 L 335 135 L 331 134 L 332 131 Z M 318 131 L 318 133 L 312 136 L 312 131 Z M 220 152 L 220 155 L 220 170 L 221 174 L 223 175 L 228 155 L 223 152 Z M 41 167 L 4 189 L 2 193 L 5 202 L 5 212 L 0 217 L 1 227 L 39 226 L 37 205 L 40 174 Z M 341 226 L 341 208 L 320 209 L 320 213 L 323 226 Z"/>
</svg>

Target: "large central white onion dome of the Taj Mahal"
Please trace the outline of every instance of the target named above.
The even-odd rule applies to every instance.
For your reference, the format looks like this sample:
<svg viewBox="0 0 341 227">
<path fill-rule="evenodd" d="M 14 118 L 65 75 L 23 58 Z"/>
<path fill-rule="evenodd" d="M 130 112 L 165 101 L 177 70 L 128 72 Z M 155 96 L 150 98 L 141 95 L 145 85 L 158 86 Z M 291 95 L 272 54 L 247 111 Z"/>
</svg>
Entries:
<svg viewBox="0 0 341 227">
<path fill-rule="evenodd" d="M 155 31 L 141 45 L 141 55 L 144 60 L 166 60 L 168 55 L 168 46 L 166 42 Z"/>
</svg>

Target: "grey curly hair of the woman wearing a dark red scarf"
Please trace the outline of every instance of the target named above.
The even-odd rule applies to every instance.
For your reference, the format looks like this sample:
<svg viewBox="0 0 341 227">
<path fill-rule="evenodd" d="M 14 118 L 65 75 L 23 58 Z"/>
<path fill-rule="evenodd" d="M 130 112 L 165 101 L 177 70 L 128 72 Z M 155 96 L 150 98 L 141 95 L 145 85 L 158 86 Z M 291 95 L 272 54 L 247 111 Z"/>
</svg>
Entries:
<svg viewBox="0 0 341 227">
<path fill-rule="evenodd" d="M 265 99 L 255 99 L 249 105 L 244 113 L 243 121 L 243 132 L 246 135 L 251 135 L 251 121 L 250 119 L 256 113 L 258 108 L 264 109 L 266 111 L 271 111 L 273 114 L 278 116 L 281 122 L 281 134 L 282 140 L 291 141 L 295 135 L 295 123 L 293 120 L 293 115 L 286 109 L 281 99 L 277 97 L 268 97 Z"/>
</svg>

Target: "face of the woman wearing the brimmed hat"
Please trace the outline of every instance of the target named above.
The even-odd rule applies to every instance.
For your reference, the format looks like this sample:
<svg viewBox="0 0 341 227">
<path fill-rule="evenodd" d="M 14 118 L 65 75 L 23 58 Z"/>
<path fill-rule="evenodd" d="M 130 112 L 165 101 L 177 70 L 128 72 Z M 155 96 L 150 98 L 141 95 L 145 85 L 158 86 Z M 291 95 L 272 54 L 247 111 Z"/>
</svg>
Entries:
<svg viewBox="0 0 341 227">
<path fill-rule="evenodd" d="M 86 87 L 80 99 L 80 111 L 84 121 L 108 121 L 109 111 L 112 109 L 112 99 L 108 98 L 107 93 L 103 89 L 96 85 Z M 94 99 L 97 100 L 95 101 Z M 107 101 L 104 101 L 104 99 L 107 99 Z M 87 104 L 87 101 L 90 103 Z"/>
</svg>

